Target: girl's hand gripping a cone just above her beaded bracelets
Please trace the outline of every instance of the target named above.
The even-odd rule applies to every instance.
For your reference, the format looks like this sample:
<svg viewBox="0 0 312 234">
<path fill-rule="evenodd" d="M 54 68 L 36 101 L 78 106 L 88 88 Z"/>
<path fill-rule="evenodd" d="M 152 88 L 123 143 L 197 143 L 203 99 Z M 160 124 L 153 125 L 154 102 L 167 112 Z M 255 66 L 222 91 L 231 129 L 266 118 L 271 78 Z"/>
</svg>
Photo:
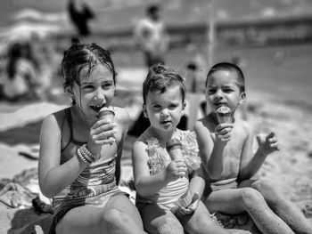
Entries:
<svg viewBox="0 0 312 234">
<path fill-rule="evenodd" d="M 110 144 L 115 141 L 114 134 L 117 133 L 116 124 L 108 123 L 100 119 L 90 129 L 87 149 L 94 155 L 100 153 L 103 144 Z"/>
</svg>

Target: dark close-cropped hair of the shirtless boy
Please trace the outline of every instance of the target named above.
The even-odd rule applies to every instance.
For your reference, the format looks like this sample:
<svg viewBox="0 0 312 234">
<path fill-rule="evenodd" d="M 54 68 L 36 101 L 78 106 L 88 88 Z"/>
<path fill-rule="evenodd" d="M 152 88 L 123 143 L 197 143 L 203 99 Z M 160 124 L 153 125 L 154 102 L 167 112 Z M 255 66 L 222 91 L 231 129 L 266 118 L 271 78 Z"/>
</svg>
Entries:
<svg viewBox="0 0 312 234">
<path fill-rule="evenodd" d="M 243 76 L 242 69 L 240 69 L 237 65 L 231 62 L 219 62 L 213 65 L 212 68 L 209 69 L 209 72 L 207 74 L 206 87 L 208 85 L 209 77 L 211 77 L 211 75 L 218 70 L 227 70 L 236 72 L 237 85 L 239 86 L 241 92 L 245 92 L 245 77 Z"/>
</svg>

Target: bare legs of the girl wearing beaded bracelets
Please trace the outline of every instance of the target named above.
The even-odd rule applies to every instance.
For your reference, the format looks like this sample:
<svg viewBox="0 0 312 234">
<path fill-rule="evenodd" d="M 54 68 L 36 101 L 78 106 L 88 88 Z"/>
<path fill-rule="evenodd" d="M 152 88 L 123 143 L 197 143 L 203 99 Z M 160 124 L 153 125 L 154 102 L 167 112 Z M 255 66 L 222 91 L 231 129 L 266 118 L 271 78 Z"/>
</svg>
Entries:
<svg viewBox="0 0 312 234">
<path fill-rule="evenodd" d="M 123 195 L 110 199 L 102 207 L 79 206 L 70 210 L 56 226 L 56 233 L 146 233 L 139 213 Z"/>
</svg>

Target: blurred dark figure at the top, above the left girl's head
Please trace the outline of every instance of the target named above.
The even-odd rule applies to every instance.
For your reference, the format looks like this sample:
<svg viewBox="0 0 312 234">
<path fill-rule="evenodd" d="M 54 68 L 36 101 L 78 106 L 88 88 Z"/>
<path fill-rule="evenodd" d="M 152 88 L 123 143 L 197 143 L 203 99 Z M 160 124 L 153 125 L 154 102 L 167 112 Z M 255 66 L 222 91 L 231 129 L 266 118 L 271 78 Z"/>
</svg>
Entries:
<svg viewBox="0 0 312 234">
<path fill-rule="evenodd" d="M 70 0 L 68 5 L 70 20 L 78 31 L 78 36 L 89 36 L 88 20 L 94 19 L 94 12 L 83 0 Z"/>
</svg>

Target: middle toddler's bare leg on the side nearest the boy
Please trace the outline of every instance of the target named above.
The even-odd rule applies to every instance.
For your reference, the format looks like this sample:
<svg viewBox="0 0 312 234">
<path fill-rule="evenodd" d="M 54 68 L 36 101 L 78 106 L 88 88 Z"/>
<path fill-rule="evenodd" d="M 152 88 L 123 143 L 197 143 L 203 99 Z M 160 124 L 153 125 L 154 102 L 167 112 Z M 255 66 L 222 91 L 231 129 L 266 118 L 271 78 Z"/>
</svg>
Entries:
<svg viewBox="0 0 312 234">
<path fill-rule="evenodd" d="M 190 234 L 226 234 L 226 230 L 220 227 L 210 218 L 209 211 L 200 201 L 193 214 L 177 214 L 177 218 Z"/>
</svg>

